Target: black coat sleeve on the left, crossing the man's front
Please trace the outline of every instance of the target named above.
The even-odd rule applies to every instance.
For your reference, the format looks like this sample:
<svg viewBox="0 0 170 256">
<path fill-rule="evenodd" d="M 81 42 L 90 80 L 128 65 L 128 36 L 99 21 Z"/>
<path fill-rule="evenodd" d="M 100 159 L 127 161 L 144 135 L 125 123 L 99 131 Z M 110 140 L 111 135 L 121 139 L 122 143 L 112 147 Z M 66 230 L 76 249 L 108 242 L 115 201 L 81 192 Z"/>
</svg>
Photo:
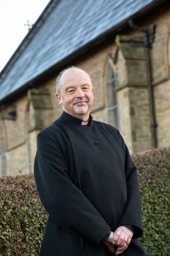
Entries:
<svg viewBox="0 0 170 256">
<path fill-rule="evenodd" d="M 40 132 L 34 174 L 44 208 L 56 225 L 66 232 L 98 244 L 111 228 L 68 173 L 66 159 L 56 138 Z"/>
</svg>

